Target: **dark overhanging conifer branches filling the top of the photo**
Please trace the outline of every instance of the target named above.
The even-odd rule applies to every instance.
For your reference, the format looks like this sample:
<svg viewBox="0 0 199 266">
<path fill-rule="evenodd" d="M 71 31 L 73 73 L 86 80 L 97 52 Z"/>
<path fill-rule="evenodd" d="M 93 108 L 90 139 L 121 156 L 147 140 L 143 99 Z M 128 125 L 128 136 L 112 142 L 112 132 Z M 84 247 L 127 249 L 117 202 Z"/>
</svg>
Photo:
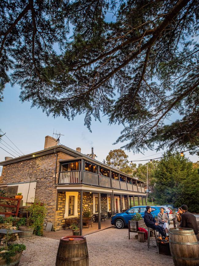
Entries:
<svg viewBox="0 0 199 266">
<path fill-rule="evenodd" d="M 115 22 L 107 22 L 114 5 Z M 55 117 L 84 113 L 89 129 L 102 112 L 124 125 L 116 142 L 128 141 L 127 149 L 198 146 L 198 6 L 195 0 L 3 1 L 1 86 L 13 66 L 22 101 Z M 179 118 L 170 122 L 173 112 Z"/>
</svg>

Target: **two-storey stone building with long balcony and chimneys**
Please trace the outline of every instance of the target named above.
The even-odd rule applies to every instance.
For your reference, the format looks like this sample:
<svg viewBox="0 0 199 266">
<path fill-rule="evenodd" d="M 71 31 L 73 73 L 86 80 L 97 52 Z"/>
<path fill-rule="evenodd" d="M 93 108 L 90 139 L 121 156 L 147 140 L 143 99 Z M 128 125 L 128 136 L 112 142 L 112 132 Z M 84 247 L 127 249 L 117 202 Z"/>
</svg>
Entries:
<svg viewBox="0 0 199 266">
<path fill-rule="evenodd" d="M 89 157 L 81 148 L 57 145 L 50 136 L 43 150 L 6 159 L 0 163 L 0 186 L 18 186 L 24 205 L 35 199 L 43 202 L 45 222 L 52 222 L 55 230 L 64 228 L 65 219 L 82 217 L 85 211 L 107 216 L 133 206 L 135 197 L 142 205 L 146 201 L 142 181 L 95 160 L 93 150 Z"/>
</svg>

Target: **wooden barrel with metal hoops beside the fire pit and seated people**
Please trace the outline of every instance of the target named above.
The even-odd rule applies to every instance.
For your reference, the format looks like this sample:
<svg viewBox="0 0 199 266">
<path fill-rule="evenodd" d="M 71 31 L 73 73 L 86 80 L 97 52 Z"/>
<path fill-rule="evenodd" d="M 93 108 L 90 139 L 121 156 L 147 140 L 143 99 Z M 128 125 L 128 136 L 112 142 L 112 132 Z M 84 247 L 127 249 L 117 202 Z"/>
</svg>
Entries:
<svg viewBox="0 0 199 266">
<path fill-rule="evenodd" d="M 199 245 L 193 229 L 170 228 L 169 246 L 176 266 L 198 266 Z"/>
</svg>

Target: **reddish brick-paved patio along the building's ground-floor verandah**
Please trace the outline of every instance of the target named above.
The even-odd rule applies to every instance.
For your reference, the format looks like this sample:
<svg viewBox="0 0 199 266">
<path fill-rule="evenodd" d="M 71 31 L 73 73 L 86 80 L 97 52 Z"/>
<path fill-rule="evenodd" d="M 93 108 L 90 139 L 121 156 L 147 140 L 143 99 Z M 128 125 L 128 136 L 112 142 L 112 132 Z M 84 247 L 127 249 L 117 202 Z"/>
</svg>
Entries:
<svg viewBox="0 0 199 266">
<path fill-rule="evenodd" d="M 86 236 L 86 235 L 96 233 L 96 232 L 99 232 L 99 231 L 102 231 L 104 229 L 111 228 L 111 227 L 114 227 L 111 225 L 111 219 L 106 219 L 105 221 L 101 221 L 101 229 L 98 229 L 98 222 L 96 222 L 96 223 L 93 222 L 92 227 L 91 226 L 89 226 L 89 228 L 88 228 L 88 226 L 83 227 L 82 235 Z M 48 238 L 52 238 L 52 239 L 56 239 L 56 240 L 60 240 L 60 238 L 64 237 L 64 236 L 71 236 L 71 235 L 73 235 L 71 229 L 59 230 L 56 232 L 53 232 L 53 231 L 47 232 L 45 230 L 43 231 L 44 237 L 48 237 Z"/>
</svg>

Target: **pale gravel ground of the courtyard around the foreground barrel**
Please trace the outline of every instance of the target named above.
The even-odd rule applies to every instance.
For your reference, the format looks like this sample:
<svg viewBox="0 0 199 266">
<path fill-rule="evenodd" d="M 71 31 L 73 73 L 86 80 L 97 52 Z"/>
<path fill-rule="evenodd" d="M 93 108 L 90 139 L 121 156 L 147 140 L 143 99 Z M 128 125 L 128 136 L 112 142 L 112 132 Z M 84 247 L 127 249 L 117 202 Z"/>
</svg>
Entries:
<svg viewBox="0 0 199 266">
<path fill-rule="evenodd" d="M 89 265 L 103 266 L 128 266 L 128 265 L 174 265 L 170 256 L 159 255 L 155 241 L 151 241 L 148 250 L 147 242 L 140 243 L 128 229 L 110 228 L 86 236 Z M 20 266 L 54 266 L 58 240 L 47 237 L 32 236 L 28 239 L 20 239 L 18 242 L 26 245 Z"/>
</svg>

